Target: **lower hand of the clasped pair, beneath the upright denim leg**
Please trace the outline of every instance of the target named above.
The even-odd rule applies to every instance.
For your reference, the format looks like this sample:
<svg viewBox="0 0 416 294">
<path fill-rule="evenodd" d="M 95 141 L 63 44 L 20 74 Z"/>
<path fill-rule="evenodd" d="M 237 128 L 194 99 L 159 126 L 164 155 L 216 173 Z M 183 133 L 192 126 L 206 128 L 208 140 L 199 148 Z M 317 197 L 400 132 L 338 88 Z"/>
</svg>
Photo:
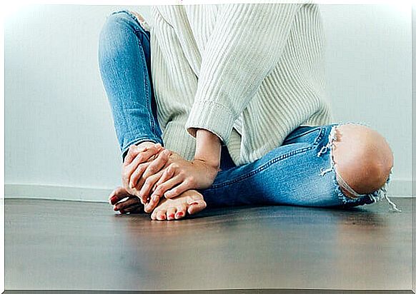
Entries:
<svg viewBox="0 0 416 294">
<path fill-rule="evenodd" d="M 124 190 L 132 196 L 137 196 L 142 204 L 147 203 L 147 198 L 142 197 L 140 190 L 149 176 L 164 167 L 169 155 L 170 151 L 164 149 L 159 143 L 144 142 L 139 146 L 130 146 L 122 164 Z M 162 176 L 162 173 L 159 175 Z"/>
</svg>

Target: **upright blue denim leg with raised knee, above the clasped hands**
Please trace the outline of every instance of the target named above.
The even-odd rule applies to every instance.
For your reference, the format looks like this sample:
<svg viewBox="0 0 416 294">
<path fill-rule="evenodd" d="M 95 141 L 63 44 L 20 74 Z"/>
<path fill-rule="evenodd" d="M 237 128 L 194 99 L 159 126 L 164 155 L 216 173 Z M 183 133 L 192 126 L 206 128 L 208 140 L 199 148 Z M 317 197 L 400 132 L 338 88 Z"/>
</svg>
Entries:
<svg viewBox="0 0 416 294">
<path fill-rule="evenodd" d="M 99 69 L 122 157 L 132 144 L 161 143 L 150 71 L 150 35 L 129 11 L 111 14 L 99 36 Z"/>
</svg>

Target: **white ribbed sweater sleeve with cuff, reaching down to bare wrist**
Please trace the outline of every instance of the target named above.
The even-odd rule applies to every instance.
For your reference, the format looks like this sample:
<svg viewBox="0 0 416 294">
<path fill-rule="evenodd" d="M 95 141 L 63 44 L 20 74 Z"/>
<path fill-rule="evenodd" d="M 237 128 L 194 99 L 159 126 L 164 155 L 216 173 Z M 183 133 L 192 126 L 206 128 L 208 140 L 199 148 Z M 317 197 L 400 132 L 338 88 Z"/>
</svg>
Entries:
<svg viewBox="0 0 416 294">
<path fill-rule="evenodd" d="M 228 143 L 234 121 L 274 69 L 302 4 L 222 5 L 202 54 L 197 93 L 185 127 Z"/>
</svg>

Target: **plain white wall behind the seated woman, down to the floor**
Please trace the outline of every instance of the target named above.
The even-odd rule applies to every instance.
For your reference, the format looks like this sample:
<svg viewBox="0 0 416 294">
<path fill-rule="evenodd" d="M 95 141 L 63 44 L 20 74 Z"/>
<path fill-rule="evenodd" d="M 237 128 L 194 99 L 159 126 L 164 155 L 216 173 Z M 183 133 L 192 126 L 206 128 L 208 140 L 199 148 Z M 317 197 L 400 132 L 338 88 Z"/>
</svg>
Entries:
<svg viewBox="0 0 416 294">
<path fill-rule="evenodd" d="M 121 159 L 97 64 L 107 15 L 149 6 L 27 6 L 5 22 L 6 197 L 107 201 Z M 364 121 L 392 146 L 390 194 L 410 195 L 411 13 L 321 6 L 337 121 Z M 59 188 L 61 187 L 61 188 Z"/>
</svg>

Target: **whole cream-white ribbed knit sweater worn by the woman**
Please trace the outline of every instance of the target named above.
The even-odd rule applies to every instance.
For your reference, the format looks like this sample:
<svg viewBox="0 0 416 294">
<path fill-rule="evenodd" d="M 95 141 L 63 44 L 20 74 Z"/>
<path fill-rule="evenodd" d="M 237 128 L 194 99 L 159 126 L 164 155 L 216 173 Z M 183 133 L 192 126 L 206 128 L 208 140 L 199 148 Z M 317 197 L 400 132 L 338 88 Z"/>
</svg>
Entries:
<svg viewBox="0 0 416 294">
<path fill-rule="evenodd" d="M 237 166 L 301 125 L 331 123 L 317 4 L 154 6 L 151 58 L 165 147 L 194 157 L 195 128 Z"/>
</svg>

